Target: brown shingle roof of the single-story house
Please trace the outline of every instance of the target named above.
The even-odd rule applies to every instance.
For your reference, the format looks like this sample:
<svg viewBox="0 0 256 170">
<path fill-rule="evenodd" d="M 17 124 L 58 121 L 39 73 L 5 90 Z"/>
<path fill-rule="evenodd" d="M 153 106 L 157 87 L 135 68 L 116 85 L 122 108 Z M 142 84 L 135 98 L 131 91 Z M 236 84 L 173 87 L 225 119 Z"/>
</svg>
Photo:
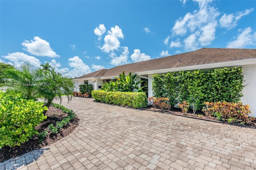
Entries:
<svg viewBox="0 0 256 170">
<path fill-rule="evenodd" d="M 108 70 L 103 69 L 104 74 L 102 74 L 103 72 L 101 72 L 100 75 L 103 77 L 110 77 L 118 76 L 123 71 L 126 72 L 126 74 L 128 74 L 128 72 L 132 72 L 132 74 L 134 74 L 135 72 L 179 68 L 202 64 L 223 63 L 230 61 L 239 61 L 244 59 L 256 59 L 256 49 L 202 48 L 188 53 L 182 53 L 178 55 L 172 55 L 148 61 L 141 61 L 138 63 L 116 66 Z M 96 74 L 97 72 L 98 71 L 92 72 L 79 78 L 94 77 L 92 75 Z"/>
</svg>

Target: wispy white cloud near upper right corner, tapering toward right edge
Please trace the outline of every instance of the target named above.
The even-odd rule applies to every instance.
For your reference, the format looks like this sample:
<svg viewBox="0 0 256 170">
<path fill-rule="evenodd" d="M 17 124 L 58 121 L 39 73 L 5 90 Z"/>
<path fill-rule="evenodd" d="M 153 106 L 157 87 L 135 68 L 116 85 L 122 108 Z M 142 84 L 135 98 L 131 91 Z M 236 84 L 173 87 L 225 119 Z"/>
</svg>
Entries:
<svg viewBox="0 0 256 170">
<path fill-rule="evenodd" d="M 242 12 L 236 12 L 236 14 L 224 14 L 220 18 L 220 27 L 224 27 L 227 29 L 231 29 L 236 27 L 238 21 L 242 18 L 242 16 L 246 16 L 254 11 L 254 8 L 246 9 Z"/>
</svg>

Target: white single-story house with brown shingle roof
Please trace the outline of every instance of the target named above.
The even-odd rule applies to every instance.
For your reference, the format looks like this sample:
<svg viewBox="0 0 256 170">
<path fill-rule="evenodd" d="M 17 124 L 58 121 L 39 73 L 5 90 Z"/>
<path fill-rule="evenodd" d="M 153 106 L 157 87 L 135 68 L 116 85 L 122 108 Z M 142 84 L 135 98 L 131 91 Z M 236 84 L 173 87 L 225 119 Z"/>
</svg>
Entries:
<svg viewBox="0 0 256 170">
<path fill-rule="evenodd" d="M 152 75 L 180 70 L 206 70 L 223 67 L 240 67 L 244 73 L 243 97 L 241 102 L 249 104 L 252 116 L 256 117 L 256 49 L 202 48 L 196 51 L 125 64 L 110 69 L 102 69 L 74 78 L 76 90 L 79 84 L 93 84 L 99 90 L 102 83 L 118 77 L 123 71 L 137 74 L 138 81 L 148 79 L 148 97 L 153 96 Z"/>
</svg>

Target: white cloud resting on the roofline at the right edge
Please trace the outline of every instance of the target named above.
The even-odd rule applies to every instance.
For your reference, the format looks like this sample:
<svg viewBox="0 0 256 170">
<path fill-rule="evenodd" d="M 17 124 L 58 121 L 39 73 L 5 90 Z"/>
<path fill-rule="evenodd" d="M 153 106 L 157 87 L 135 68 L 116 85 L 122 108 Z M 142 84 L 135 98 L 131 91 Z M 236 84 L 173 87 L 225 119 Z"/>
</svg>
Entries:
<svg viewBox="0 0 256 170">
<path fill-rule="evenodd" d="M 234 41 L 228 42 L 227 48 L 244 48 L 246 45 L 256 45 L 256 31 L 248 27 L 238 34 Z"/>
</svg>

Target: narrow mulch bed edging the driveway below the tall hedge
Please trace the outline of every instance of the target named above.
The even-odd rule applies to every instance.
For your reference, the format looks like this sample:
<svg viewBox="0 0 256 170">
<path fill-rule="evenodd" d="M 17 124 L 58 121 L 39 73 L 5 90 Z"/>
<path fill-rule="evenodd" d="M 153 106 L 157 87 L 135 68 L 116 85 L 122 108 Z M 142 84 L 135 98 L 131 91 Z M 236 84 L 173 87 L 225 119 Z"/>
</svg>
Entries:
<svg viewBox="0 0 256 170">
<path fill-rule="evenodd" d="M 193 111 L 188 111 L 188 113 L 186 115 L 184 115 L 181 112 L 181 109 L 178 108 L 172 108 L 170 110 L 164 110 L 164 111 L 160 111 L 160 109 L 154 109 L 151 106 L 148 106 L 146 108 L 144 108 L 144 110 L 150 110 L 150 111 L 158 111 L 161 113 L 169 113 L 169 114 L 173 114 L 173 115 L 180 115 L 180 116 L 186 116 L 186 117 L 192 117 L 192 118 L 196 118 L 196 119 L 202 119 L 202 120 L 206 120 L 206 121 L 214 121 L 214 122 L 218 122 L 218 123 L 225 123 L 225 124 L 229 124 L 229 125 L 236 125 L 236 126 L 241 126 L 241 127 L 250 127 L 250 128 L 254 128 L 256 129 L 256 119 L 254 119 L 254 121 L 251 124 L 245 124 L 245 125 L 240 125 L 238 123 L 228 123 L 225 121 L 219 121 L 217 119 L 217 117 L 206 117 L 206 115 L 203 112 L 200 111 L 196 111 L 196 113 L 193 113 Z"/>
</svg>

